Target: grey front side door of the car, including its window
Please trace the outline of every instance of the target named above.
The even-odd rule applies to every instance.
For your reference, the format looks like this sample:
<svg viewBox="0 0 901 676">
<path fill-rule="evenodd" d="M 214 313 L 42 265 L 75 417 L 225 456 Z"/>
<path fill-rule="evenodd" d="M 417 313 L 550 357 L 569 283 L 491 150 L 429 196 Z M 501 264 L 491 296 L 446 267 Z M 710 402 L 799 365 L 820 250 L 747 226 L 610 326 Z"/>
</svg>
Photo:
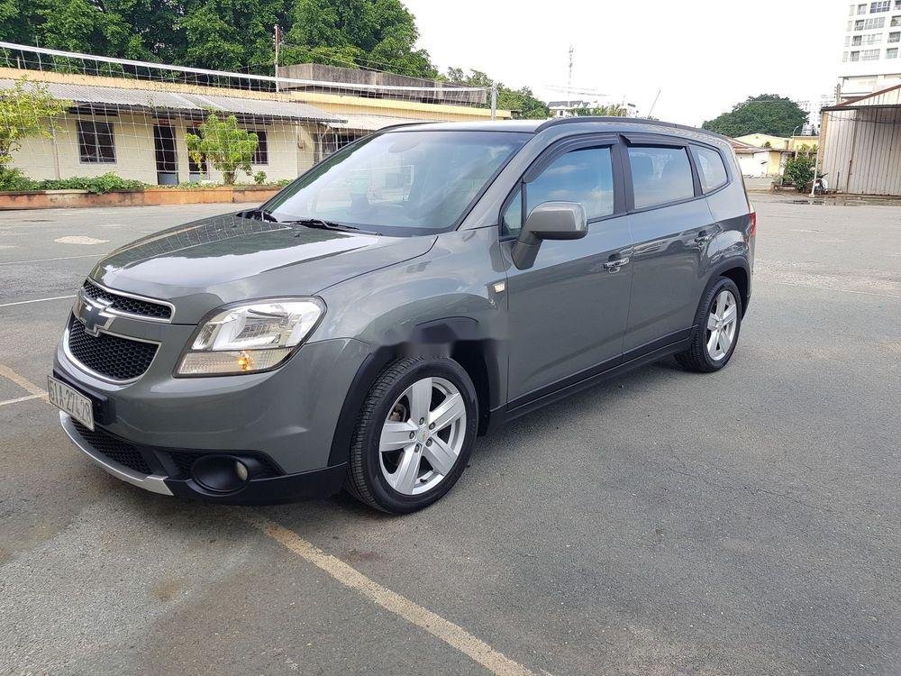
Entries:
<svg viewBox="0 0 901 676">
<path fill-rule="evenodd" d="M 551 148 L 506 207 L 502 235 L 548 201 L 580 203 L 588 233 L 543 242 L 532 268 L 509 270 L 508 400 L 515 407 L 592 375 L 623 352 L 632 293 L 629 216 L 623 213 L 619 146 L 597 139 Z M 621 261 L 619 264 L 612 264 Z"/>
</svg>

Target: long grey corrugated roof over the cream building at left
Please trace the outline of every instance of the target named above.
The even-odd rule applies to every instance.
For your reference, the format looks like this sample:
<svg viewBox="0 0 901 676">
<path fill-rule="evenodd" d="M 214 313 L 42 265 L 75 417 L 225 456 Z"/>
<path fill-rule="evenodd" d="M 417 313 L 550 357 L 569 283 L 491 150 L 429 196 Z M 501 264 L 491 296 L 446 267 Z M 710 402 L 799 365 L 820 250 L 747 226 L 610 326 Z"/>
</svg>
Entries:
<svg viewBox="0 0 901 676">
<path fill-rule="evenodd" d="M 341 123 L 341 115 L 328 113 L 313 105 L 273 101 L 262 98 L 241 98 L 238 96 L 218 96 L 184 94 L 156 89 L 125 89 L 123 87 L 91 87 L 89 85 L 42 83 L 50 94 L 81 105 L 115 105 L 126 110 L 177 112 L 202 112 L 209 109 L 224 113 L 259 115 L 285 120 Z M 0 89 L 14 87 L 14 80 L 0 78 Z"/>
</svg>

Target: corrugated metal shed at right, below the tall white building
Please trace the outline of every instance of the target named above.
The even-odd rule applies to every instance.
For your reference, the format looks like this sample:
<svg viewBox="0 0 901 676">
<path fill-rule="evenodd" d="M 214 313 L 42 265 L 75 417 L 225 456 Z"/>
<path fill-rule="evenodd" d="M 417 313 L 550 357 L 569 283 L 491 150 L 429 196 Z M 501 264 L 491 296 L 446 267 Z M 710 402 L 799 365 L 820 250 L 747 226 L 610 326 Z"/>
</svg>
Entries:
<svg viewBox="0 0 901 676">
<path fill-rule="evenodd" d="M 821 130 L 831 189 L 901 196 L 901 85 L 823 108 Z"/>
</svg>

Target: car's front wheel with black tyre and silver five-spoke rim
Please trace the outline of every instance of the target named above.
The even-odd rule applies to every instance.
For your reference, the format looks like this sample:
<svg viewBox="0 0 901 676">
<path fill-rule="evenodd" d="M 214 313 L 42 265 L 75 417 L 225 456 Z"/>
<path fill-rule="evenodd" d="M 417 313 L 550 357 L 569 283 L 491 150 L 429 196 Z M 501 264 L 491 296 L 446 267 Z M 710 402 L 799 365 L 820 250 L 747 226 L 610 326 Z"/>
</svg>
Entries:
<svg viewBox="0 0 901 676">
<path fill-rule="evenodd" d="M 460 364 L 395 361 L 363 402 L 345 488 L 391 514 L 428 507 L 460 479 L 477 429 L 476 389 Z"/>
</svg>

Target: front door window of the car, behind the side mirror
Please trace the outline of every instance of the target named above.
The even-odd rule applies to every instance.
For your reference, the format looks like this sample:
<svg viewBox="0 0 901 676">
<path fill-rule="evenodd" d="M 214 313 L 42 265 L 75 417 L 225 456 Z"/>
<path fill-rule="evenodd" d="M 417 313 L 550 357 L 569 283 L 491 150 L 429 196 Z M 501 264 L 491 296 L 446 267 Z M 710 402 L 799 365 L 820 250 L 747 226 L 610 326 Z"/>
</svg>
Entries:
<svg viewBox="0 0 901 676">
<path fill-rule="evenodd" d="M 502 226 L 505 234 L 514 234 L 532 209 L 542 202 L 578 202 L 588 220 L 614 213 L 614 171 L 609 147 L 569 151 L 553 160 L 542 173 L 526 183 L 525 210 L 522 194 L 517 193 L 507 207 Z M 518 204 L 517 204 L 518 202 Z"/>
</svg>

